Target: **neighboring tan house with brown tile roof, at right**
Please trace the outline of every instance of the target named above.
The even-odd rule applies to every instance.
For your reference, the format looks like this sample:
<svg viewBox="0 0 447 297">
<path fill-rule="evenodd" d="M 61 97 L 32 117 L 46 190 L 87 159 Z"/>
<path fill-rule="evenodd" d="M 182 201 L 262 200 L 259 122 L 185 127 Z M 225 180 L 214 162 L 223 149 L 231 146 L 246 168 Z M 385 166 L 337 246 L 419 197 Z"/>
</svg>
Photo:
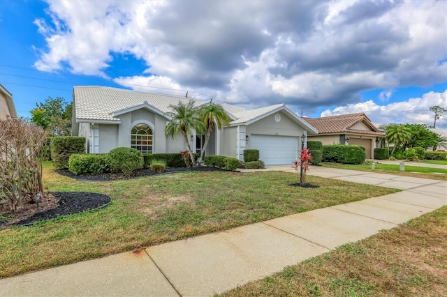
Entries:
<svg viewBox="0 0 447 297">
<path fill-rule="evenodd" d="M 374 158 L 374 148 L 380 147 L 379 138 L 385 137 L 385 133 L 377 129 L 364 113 L 302 119 L 318 130 L 318 135 L 309 135 L 309 140 L 365 146 L 368 159 Z"/>
</svg>

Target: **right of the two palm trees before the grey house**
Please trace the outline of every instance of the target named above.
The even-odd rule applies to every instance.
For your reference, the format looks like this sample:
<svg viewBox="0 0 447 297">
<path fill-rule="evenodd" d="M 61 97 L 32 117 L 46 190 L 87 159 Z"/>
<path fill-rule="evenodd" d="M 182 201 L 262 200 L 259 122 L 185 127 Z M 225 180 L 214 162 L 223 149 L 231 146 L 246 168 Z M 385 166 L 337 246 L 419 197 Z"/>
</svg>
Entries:
<svg viewBox="0 0 447 297">
<path fill-rule="evenodd" d="M 205 148 L 210 140 L 211 132 L 214 126 L 217 124 L 217 129 L 221 130 L 223 125 L 228 125 L 230 123 L 230 117 L 226 114 L 223 107 L 219 104 L 212 102 L 210 100 L 210 105 L 205 105 L 199 110 L 200 119 L 205 123 L 207 134 L 205 135 L 205 143 L 203 144 L 202 151 L 200 153 L 200 160 L 203 160 L 203 155 L 205 155 Z M 215 122 L 215 123 L 214 123 Z"/>
</svg>

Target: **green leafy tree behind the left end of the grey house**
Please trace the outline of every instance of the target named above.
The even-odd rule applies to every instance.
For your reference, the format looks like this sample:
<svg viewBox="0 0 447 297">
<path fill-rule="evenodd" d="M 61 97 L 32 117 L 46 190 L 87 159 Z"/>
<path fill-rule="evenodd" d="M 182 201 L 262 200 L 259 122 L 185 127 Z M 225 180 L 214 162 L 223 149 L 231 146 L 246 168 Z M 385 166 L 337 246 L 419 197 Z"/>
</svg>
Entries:
<svg viewBox="0 0 447 297">
<path fill-rule="evenodd" d="M 45 102 L 36 103 L 36 108 L 31 110 L 31 122 L 40 125 L 53 136 L 69 136 L 72 109 L 72 102 L 61 97 L 48 97 Z"/>
</svg>

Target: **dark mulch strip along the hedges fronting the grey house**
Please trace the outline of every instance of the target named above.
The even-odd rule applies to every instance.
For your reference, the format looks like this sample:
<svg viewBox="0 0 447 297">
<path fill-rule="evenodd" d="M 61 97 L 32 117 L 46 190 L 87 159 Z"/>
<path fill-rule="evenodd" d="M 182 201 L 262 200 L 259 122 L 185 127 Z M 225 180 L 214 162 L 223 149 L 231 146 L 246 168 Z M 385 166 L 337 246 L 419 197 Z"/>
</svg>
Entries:
<svg viewBox="0 0 447 297">
<path fill-rule="evenodd" d="M 142 176 L 156 176 L 161 174 L 172 174 L 175 172 L 216 172 L 216 171 L 225 171 L 223 169 L 219 169 L 216 167 L 169 167 L 166 168 L 163 173 L 152 172 L 150 169 L 138 169 L 132 172 L 131 175 L 126 176 L 124 174 L 116 174 L 116 173 L 105 173 L 105 174 L 80 174 L 75 175 L 68 171 L 68 169 L 57 170 L 56 172 L 68 176 L 71 178 L 75 178 L 79 181 L 115 181 L 119 179 L 130 179 L 130 178 L 138 178 Z"/>
</svg>

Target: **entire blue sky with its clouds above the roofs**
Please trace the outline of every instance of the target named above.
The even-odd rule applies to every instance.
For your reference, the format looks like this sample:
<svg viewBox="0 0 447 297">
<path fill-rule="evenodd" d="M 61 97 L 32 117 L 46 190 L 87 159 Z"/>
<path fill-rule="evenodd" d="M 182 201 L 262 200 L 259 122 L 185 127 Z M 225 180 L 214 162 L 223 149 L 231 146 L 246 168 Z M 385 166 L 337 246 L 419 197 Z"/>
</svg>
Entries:
<svg viewBox="0 0 447 297">
<path fill-rule="evenodd" d="M 0 83 L 20 116 L 101 85 L 432 124 L 430 106 L 447 109 L 446 12 L 430 0 L 2 0 Z"/>
</svg>

